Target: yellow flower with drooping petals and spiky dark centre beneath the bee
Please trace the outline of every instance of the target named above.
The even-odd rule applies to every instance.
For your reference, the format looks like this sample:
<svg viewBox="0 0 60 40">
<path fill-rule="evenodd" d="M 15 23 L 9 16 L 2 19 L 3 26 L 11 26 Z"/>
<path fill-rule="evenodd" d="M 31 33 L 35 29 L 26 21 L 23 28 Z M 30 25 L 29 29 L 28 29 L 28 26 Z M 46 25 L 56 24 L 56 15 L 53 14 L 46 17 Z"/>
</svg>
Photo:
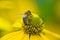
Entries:
<svg viewBox="0 0 60 40">
<path fill-rule="evenodd" d="M 37 17 L 39 18 L 37 14 L 32 14 L 32 15 L 36 18 Z M 40 21 L 41 21 L 40 24 L 42 24 L 43 21 L 41 19 Z M 37 25 L 32 24 L 30 26 L 23 25 L 21 27 L 21 31 L 7 34 L 4 37 L 2 37 L 0 40 L 49 40 L 49 39 L 57 40 L 57 38 L 60 39 L 60 35 L 57 35 L 56 33 L 50 32 L 45 29 L 40 30 L 41 26 L 42 25 L 38 25 L 38 24 Z M 43 35 L 43 33 L 45 33 L 45 35 Z"/>
</svg>

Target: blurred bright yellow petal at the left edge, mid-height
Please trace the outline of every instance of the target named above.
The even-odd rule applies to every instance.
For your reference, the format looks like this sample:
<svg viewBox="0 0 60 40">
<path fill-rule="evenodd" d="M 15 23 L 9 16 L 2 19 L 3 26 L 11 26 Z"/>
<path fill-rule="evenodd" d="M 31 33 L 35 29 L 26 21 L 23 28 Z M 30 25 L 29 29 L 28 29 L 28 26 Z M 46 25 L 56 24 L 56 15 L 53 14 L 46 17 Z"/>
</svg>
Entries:
<svg viewBox="0 0 60 40">
<path fill-rule="evenodd" d="M 11 23 L 5 18 L 0 17 L 0 29 L 5 31 L 12 31 Z"/>
</svg>

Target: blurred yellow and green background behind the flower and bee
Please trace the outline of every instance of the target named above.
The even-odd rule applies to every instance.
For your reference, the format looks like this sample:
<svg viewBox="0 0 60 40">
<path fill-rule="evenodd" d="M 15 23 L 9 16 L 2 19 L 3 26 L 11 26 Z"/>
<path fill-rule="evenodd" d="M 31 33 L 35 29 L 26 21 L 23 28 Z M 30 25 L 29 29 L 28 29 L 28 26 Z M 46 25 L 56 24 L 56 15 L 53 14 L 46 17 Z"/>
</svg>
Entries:
<svg viewBox="0 0 60 40">
<path fill-rule="evenodd" d="M 0 0 L 0 37 L 19 31 L 27 10 L 37 13 L 45 29 L 60 34 L 60 0 Z"/>
</svg>

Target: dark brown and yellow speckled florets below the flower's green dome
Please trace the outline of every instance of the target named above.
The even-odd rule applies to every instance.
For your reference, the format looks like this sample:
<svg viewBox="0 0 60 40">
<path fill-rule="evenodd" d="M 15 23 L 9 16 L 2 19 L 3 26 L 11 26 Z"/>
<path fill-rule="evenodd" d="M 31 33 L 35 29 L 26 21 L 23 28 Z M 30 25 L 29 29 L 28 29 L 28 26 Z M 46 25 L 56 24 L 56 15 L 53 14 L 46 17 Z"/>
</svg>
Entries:
<svg viewBox="0 0 60 40">
<path fill-rule="evenodd" d="M 25 25 L 23 26 L 25 33 L 32 35 L 39 35 L 42 32 L 42 26 L 40 24 L 37 25 Z"/>
</svg>

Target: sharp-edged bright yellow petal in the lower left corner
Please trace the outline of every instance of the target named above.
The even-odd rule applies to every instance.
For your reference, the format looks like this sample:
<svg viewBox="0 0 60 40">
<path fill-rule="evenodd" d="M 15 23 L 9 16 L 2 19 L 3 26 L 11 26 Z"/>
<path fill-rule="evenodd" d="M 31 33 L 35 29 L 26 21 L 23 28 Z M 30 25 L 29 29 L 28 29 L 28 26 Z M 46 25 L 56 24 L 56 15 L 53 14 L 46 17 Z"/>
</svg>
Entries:
<svg viewBox="0 0 60 40">
<path fill-rule="evenodd" d="M 19 32 L 13 32 L 7 34 L 4 37 L 2 37 L 0 40 L 21 40 L 23 37 L 24 37 L 24 32 L 19 31 Z"/>
</svg>

